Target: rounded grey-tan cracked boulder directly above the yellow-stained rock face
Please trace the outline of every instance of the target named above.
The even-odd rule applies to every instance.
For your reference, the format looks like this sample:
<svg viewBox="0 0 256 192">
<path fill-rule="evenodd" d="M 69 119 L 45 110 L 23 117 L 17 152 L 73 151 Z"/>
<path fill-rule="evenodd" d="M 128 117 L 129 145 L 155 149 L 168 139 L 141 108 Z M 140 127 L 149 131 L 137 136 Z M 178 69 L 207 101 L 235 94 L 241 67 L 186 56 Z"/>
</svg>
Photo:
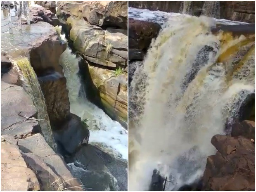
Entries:
<svg viewBox="0 0 256 192">
<path fill-rule="evenodd" d="M 83 57 L 95 64 L 115 68 L 127 66 L 127 31 L 107 28 L 103 30 L 88 22 L 69 17 L 70 39 Z"/>
</svg>

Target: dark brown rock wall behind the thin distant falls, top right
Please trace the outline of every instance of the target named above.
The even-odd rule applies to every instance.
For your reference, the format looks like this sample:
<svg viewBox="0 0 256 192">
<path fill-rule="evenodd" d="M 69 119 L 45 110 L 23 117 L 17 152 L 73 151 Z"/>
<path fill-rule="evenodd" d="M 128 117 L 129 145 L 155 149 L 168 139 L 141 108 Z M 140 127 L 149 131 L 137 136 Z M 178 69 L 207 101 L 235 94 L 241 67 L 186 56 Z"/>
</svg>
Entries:
<svg viewBox="0 0 256 192">
<path fill-rule="evenodd" d="M 129 7 L 180 12 L 183 1 L 129 1 Z M 203 8 L 204 1 L 192 1 L 192 12 Z M 220 19 L 244 21 L 255 24 L 255 1 L 220 1 Z"/>
</svg>

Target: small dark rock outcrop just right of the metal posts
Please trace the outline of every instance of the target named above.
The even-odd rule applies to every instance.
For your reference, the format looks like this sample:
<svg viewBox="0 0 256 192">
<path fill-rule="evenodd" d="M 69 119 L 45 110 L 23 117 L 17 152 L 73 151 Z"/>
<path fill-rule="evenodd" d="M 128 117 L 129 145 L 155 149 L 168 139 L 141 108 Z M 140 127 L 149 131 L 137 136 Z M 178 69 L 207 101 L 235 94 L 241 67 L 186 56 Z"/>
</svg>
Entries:
<svg viewBox="0 0 256 192">
<path fill-rule="evenodd" d="M 47 22 L 53 26 L 58 26 L 59 20 L 55 16 L 55 13 L 50 10 L 46 10 L 44 7 L 30 7 L 29 8 L 31 23 L 37 23 L 38 21 Z"/>
</svg>

